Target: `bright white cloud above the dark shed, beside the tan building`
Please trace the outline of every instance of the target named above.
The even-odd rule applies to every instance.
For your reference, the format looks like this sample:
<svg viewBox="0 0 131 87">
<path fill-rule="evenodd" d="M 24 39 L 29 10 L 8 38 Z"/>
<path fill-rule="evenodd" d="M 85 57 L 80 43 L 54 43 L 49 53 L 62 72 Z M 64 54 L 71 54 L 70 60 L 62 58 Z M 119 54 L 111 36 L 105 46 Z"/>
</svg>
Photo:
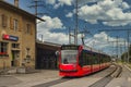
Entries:
<svg viewBox="0 0 131 87">
<path fill-rule="evenodd" d="M 46 20 L 46 22 L 41 22 L 37 25 L 37 38 L 41 39 L 41 35 L 44 40 L 55 42 L 55 44 L 68 44 L 68 35 L 63 33 L 51 33 L 50 30 L 56 28 L 66 28 L 58 17 L 50 17 L 44 15 L 41 18 Z"/>
</svg>

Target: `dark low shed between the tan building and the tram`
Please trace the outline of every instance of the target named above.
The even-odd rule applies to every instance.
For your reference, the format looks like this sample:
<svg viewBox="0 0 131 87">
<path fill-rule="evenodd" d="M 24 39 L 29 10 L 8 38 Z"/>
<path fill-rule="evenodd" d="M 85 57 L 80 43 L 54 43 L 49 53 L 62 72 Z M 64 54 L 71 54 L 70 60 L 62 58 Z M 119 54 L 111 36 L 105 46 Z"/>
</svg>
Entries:
<svg viewBox="0 0 131 87">
<path fill-rule="evenodd" d="M 37 41 L 36 44 L 36 69 L 38 70 L 56 70 L 58 69 L 57 51 L 60 50 L 61 45 Z"/>
</svg>

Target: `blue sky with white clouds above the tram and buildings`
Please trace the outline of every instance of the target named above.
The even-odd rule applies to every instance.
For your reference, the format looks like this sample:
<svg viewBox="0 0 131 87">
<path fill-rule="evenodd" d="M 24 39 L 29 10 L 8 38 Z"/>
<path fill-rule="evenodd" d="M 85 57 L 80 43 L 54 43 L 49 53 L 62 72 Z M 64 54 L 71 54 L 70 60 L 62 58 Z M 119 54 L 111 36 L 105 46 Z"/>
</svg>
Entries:
<svg viewBox="0 0 131 87">
<path fill-rule="evenodd" d="M 13 4 L 13 0 L 5 0 Z M 34 0 L 20 0 L 20 8 L 34 14 Z M 78 0 L 79 33 L 84 32 L 85 45 L 108 54 L 126 51 L 127 30 L 131 29 L 131 0 Z M 69 44 L 69 28 L 75 28 L 75 0 L 39 0 L 38 15 L 46 22 L 37 24 L 37 39 L 60 45 Z M 86 32 L 85 32 L 86 30 Z M 130 34 L 130 33 L 129 33 Z M 130 34 L 131 36 L 131 34 Z M 117 39 L 118 37 L 118 39 Z M 78 35 L 82 45 L 81 34 Z M 130 38 L 131 40 L 131 38 Z M 73 38 L 72 41 L 73 44 Z"/>
</svg>

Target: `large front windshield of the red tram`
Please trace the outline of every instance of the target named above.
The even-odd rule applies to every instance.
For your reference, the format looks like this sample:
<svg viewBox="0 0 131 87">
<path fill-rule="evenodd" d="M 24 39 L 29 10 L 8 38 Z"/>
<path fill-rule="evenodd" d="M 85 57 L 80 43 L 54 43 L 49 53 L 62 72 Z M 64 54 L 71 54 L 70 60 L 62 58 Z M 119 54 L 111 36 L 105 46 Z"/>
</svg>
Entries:
<svg viewBox="0 0 131 87">
<path fill-rule="evenodd" d="M 62 50 L 61 51 L 61 63 L 72 64 L 76 63 L 78 50 Z"/>
</svg>

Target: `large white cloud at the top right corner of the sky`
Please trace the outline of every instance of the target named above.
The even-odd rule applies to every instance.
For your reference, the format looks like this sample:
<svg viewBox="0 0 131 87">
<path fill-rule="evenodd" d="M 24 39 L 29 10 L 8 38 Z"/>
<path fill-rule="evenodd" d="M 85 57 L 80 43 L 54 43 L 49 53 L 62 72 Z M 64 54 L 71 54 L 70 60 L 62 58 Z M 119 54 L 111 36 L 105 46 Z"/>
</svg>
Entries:
<svg viewBox="0 0 131 87">
<path fill-rule="evenodd" d="M 126 21 L 131 20 L 131 13 L 123 12 L 129 8 L 130 5 L 122 0 L 100 0 L 96 4 L 81 7 L 79 16 L 92 24 L 96 24 L 98 20 L 102 20 L 106 21 L 103 24 L 108 26 L 124 26 L 131 23 L 131 21 Z M 111 20 L 118 21 L 112 22 Z"/>
</svg>

